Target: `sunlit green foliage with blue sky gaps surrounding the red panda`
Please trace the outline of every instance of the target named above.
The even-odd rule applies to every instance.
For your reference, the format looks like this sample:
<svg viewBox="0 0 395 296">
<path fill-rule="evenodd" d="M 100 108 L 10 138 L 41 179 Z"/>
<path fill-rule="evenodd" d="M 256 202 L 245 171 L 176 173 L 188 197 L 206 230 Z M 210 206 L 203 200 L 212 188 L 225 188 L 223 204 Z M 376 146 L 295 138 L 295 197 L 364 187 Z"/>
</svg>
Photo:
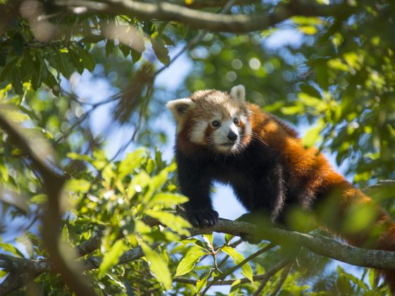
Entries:
<svg viewBox="0 0 395 296">
<path fill-rule="evenodd" d="M 0 1 L 0 16 L 3 11 L 13 16 L 11 2 Z M 245 243 L 238 247 L 229 235 L 188 238 L 190 224 L 175 214 L 187 197 L 177 192 L 175 164 L 164 161 L 156 148 L 170 145 L 157 118 L 162 118 L 164 101 L 173 96 L 243 84 L 251 102 L 295 125 L 308 126 L 305 146 L 315 144 L 332 152 L 356 185 L 395 178 L 392 1 L 347 1 L 353 10 L 350 16 L 293 16 L 262 32 L 208 32 L 197 44 L 197 30 L 188 23 L 85 15 L 53 1 L 22 2 L 37 6 L 23 6 L 9 21 L 0 20 L 0 115 L 23 128 L 35 152 L 46 156 L 49 164 L 59 164 L 66 175 L 59 229 L 65 253 L 99 235 L 99 247 L 81 258 L 98 262 L 96 269 L 85 273 L 99 295 L 202 293 L 255 250 Z M 213 7 L 213 1 L 172 2 L 209 12 L 225 3 L 218 1 Z M 236 2 L 231 13 L 270 16 L 275 6 L 288 1 Z M 273 44 L 287 32 L 294 42 Z M 187 78 L 176 90 L 159 87 L 157 75 L 171 66 L 174 52 L 185 44 L 191 69 Z M 114 95 L 104 101 L 81 98 L 75 80 L 87 77 L 104 81 Z M 116 147 L 114 156 L 108 151 L 111 132 L 98 133 L 97 121 L 92 122 L 92 113 L 104 108 L 115 119 L 109 130 L 128 131 L 125 145 Z M 0 135 L 1 253 L 47 258 L 39 217 L 50 197 L 42 175 L 4 130 Z M 370 195 L 394 214 L 394 190 L 386 188 Z M 352 228 L 370 223 L 365 210 L 356 209 L 350 217 Z M 310 223 L 308 216 L 295 217 L 301 229 Z M 147 219 L 152 218 L 162 226 L 150 225 Z M 136 249 L 143 257 L 126 260 Z M 255 292 L 260 279 L 254 281 L 253 276 L 270 271 L 286 256 L 286 249 L 276 247 L 238 266 L 226 277 L 231 283 L 224 294 Z M 262 294 L 387 293 L 372 271 L 334 268 L 333 261 L 304 249 L 290 268 L 286 278 L 275 271 Z M 8 273 L 4 267 L 0 276 Z M 15 294 L 38 290 L 71 293 L 61 276 L 42 273 Z"/>
</svg>

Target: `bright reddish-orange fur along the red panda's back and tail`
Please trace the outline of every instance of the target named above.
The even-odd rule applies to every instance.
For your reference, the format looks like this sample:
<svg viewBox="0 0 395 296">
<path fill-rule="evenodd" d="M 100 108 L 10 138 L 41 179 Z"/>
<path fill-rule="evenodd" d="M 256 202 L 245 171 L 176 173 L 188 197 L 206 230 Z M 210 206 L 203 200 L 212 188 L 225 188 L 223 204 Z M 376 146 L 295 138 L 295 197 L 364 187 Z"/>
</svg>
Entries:
<svg viewBox="0 0 395 296">
<path fill-rule="evenodd" d="M 354 188 L 339 173 L 336 173 L 325 157 L 315 147 L 306 149 L 303 147 L 301 140 L 296 137 L 296 132 L 282 122 L 273 118 L 272 114 L 263 113 L 260 108 L 254 104 L 249 104 L 250 110 L 253 111 L 250 116 L 253 132 L 256 132 L 270 147 L 278 149 L 279 154 L 286 158 L 286 170 L 290 172 L 291 183 L 298 187 L 300 180 L 305 182 L 310 195 L 316 196 L 317 190 L 322 187 L 328 188 L 334 194 L 329 198 L 338 198 L 339 209 L 335 213 L 338 224 L 324 225 L 334 233 L 340 235 L 351 245 L 366 246 L 374 249 L 384 249 L 395 251 L 395 223 L 391 221 L 389 215 L 379 206 L 377 206 L 370 197 L 367 197 L 360 190 Z M 337 196 L 336 196 L 337 195 Z M 369 240 L 369 229 L 360 233 L 341 233 L 341 221 L 346 218 L 348 209 L 356 204 L 370 204 L 373 211 L 376 212 L 375 226 L 384 227 L 381 235 L 375 242 Z M 307 205 L 306 205 L 307 206 Z M 317 217 L 320 220 L 320 217 Z M 327 221 L 320 221 L 327 224 Z M 369 242 L 367 242 L 369 240 Z M 395 271 L 379 271 L 384 276 L 386 283 L 389 285 L 391 292 L 395 291 Z"/>
</svg>

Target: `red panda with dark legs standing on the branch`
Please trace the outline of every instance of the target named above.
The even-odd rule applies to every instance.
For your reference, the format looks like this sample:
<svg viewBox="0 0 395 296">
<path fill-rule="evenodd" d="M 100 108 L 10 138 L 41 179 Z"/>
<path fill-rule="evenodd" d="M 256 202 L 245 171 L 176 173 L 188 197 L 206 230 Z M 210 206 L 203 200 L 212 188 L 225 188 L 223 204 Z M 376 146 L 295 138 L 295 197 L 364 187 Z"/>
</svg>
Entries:
<svg viewBox="0 0 395 296">
<path fill-rule="evenodd" d="M 395 251 L 395 223 L 385 211 L 336 173 L 316 148 L 305 148 L 288 124 L 246 102 L 243 85 L 230 93 L 200 90 L 166 106 L 177 122 L 178 183 L 189 197 L 185 207 L 193 226 L 217 223 L 210 199 L 217 180 L 231 185 L 250 213 L 268 214 L 274 223 L 284 222 L 298 206 L 352 245 Z M 328 199 L 332 213 L 321 215 Z M 369 207 L 372 223 L 345 230 L 344 221 L 361 205 Z M 395 271 L 379 273 L 394 292 Z"/>
</svg>

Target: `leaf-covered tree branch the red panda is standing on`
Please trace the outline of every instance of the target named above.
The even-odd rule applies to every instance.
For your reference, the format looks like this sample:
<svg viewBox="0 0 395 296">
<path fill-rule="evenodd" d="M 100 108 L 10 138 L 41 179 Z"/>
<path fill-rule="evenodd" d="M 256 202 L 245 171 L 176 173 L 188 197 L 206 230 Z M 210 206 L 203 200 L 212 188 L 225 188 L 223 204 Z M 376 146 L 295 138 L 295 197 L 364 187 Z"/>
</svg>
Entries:
<svg viewBox="0 0 395 296">
<path fill-rule="evenodd" d="M 158 225 L 157 221 L 154 221 L 153 219 L 145 219 L 145 223 L 150 226 Z M 190 233 L 191 236 L 195 236 L 204 233 L 212 233 L 213 231 L 217 233 L 240 235 L 241 233 L 254 234 L 256 229 L 255 226 L 250 223 L 219 219 L 218 224 L 212 228 L 193 228 L 190 230 Z M 279 245 L 287 244 L 306 247 L 316 254 L 343 261 L 355 266 L 371 267 L 375 269 L 395 269 L 395 252 L 352 247 L 330 238 L 278 228 L 262 229 L 262 235 L 265 237 L 265 239 Z M 75 247 L 75 251 L 80 255 L 88 254 L 99 248 L 99 242 L 100 235 L 96 235 L 87 242 L 83 242 L 83 244 Z M 121 256 L 119 259 L 119 264 L 126 264 L 139 259 L 142 256 L 144 256 L 144 254 L 142 253 L 140 247 L 130 249 Z M 101 257 L 87 257 L 87 259 L 78 260 L 78 263 L 83 266 L 83 269 L 90 270 L 97 269 L 101 261 Z M 11 272 L 11 275 L 15 273 L 15 271 L 20 271 L 22 268 L 25 273 L 34 273 L 35 276 L 38 276 L 40 273 L 49 272 L 52 270 L 51 264 L 49 261 L 47 261 L 47 259 L 30 260 L 1 255 L 0 262 L 12 263 L 8 264 L 7 269 Z M 6 264 L 3 265 L 6 266 Z M 224 283 L 226 283 L 226 281 Z M 15 290 L 16 288 L 23 287 L 23 285 L 18 287 L 13 285 L 13 287 L 13 290 Z M 1 291 L 5 291 L 4 283 L 0 284 L 0 292 Z M 7 291 L 9 292 L 10 290 Z"/>
</svg>

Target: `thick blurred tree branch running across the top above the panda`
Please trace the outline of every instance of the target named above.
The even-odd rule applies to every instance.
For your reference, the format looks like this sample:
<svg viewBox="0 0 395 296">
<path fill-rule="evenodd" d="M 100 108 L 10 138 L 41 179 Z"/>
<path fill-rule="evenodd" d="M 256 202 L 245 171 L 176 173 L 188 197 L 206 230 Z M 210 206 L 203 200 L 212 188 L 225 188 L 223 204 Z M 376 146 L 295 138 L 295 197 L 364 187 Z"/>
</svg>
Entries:
<svg viewBox="0 0 395 296">
<path fill-rule="evenodd" d="M 209 13 L 195 9 L 170 4 L 165 1 L 144 3 L 133 0 L 58 0 L 56 4 L 69 8 L 80 7 L 81 13 L 106 13 L 111 15 L 136 16 L 150 20 L 177 21 L 197 29 L 214 32 L 245 33 L 263 30 L 277 25 L 292 16 L 322 16 L 344 18 L 353 12 L 348 4 L 320 5 L 316 1 L 291 0 L 288 4 L 279 5 L 268 15 L 255 13 L 252 15 L 224 13 Z"/>
</svg>

